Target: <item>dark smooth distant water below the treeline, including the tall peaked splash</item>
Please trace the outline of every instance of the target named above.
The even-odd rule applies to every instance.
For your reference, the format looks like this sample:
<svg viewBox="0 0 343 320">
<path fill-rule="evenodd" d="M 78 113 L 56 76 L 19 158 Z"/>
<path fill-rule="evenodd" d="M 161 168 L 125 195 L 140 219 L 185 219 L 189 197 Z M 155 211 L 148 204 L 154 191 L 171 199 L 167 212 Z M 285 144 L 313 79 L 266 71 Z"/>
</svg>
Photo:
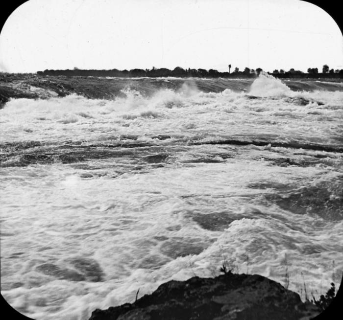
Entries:
<svg viewBox="0 0 343 320">
<path fill-rule="evenodd" d="M 287 86 L 292 91 L 343 91 L 342 83 L 330 81 L 311 81 L 286 79 Z M 12 98 L 49 99 L 78 94 L 90 99 L 113 100 L 125 97 L 125 89 L 137 91 L 144 97 L 150 97 L 157 91 L 183 91 L 184 86 L 205 93 L 219 93 L 225 89 L 235 92 L 248 92 L 252 85 L 252 93 L 257 96 L 287 95 L 290 92 L 282 82 L 271 75 L 261 72 L 256 79 L 227 78 L 97 78 L 97 77 L 28 77 L 16 79 L 10 87 L 1 87 L 4 93 L 1 106 Z M 269 93 L 266 91 L 270 91 Z"/>
</svg>

